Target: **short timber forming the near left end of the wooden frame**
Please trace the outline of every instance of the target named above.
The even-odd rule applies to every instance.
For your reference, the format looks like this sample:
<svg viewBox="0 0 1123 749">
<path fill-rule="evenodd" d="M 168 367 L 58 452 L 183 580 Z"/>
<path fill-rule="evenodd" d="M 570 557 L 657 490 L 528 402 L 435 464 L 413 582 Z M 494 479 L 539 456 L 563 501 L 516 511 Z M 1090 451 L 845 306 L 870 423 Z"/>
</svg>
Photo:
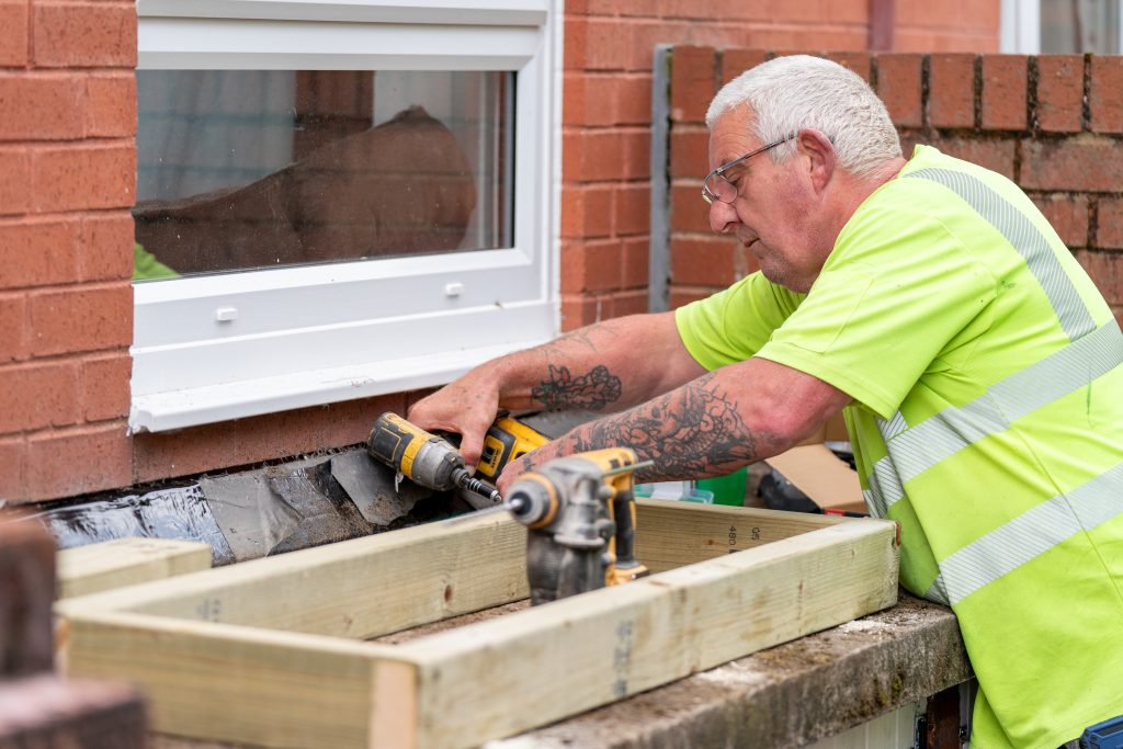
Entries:
<svg viewBox="0 0 1123 749">
<path fill-rule="evenodd" d="M 72 674 L 140 685 L 154 730 L 263 747 L 369 746 L 374 659 L 316 634 L 90 613 L 71 622 Z"/>
</svg>

